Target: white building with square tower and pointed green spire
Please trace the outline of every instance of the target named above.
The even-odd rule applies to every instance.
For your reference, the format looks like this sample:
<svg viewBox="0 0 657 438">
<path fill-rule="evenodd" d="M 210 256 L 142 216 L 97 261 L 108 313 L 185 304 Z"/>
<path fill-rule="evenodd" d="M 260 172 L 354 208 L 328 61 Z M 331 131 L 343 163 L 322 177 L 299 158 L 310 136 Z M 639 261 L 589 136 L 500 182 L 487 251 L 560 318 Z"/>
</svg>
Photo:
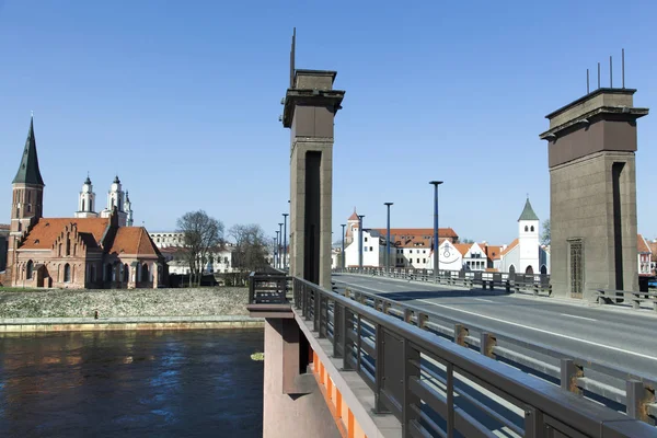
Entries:
<svg viewBox="0 0 657 438">
<path fill-rule="evenodd" d="M 550 274 L 550 254 L 539 242 L 539 217 L 529 198 L 518 218 L 518 239 L 502 251 L 499 270 L 519 274 Z"/>
</svg>

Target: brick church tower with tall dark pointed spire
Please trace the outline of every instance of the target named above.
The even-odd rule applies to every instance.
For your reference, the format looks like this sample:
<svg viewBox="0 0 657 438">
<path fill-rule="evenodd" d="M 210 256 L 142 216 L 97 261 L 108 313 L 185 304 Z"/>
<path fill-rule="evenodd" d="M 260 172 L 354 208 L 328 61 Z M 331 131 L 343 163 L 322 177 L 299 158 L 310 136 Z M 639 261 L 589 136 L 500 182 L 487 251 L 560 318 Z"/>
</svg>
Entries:
<svg viewBox="0 0 657 438">
<path fill-rule="evenodd" d="M 44 180 L 38 169 L 34 117 L 30 119 L 30 130 L 16 176 L 12 181 L 11 226 L 8 242 L 7 277 L 13 280 L 13 265 L 16 249 L 27 230 L 44 215 Z"/>
</svg>

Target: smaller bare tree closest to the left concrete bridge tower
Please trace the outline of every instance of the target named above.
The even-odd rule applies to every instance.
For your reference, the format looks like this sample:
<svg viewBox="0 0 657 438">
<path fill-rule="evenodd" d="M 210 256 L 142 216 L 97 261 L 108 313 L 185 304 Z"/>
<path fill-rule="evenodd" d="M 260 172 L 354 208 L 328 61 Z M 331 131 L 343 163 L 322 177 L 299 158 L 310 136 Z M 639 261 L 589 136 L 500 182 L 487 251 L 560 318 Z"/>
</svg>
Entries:
<svg viewBox="0 0 657 438">
<path fill-rule="evenodd" d="M 235 224 L 228 233 L 235 243 L 233 267 L 240 272 L 243 283 L 245 274 L 267 265 L 270 242 L 261 226 L 255 223 Z"/>
</svg>

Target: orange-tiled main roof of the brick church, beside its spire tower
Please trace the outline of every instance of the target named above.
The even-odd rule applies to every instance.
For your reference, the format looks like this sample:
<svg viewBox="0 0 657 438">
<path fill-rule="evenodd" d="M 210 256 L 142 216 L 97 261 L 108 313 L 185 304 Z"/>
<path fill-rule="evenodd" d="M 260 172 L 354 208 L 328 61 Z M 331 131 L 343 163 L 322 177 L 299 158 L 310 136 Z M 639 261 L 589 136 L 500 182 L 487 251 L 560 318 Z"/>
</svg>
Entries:
<svg viewBox="0 0 657 438">
<path fill-rule="evenodd" d="M 78 233 L 88 246 L 100 242 L 110 224 L 110 218 L 41 218 L 27 234 L 21 250 L 50 250 L 64 228 L 76 223 Z"/>
</svg>

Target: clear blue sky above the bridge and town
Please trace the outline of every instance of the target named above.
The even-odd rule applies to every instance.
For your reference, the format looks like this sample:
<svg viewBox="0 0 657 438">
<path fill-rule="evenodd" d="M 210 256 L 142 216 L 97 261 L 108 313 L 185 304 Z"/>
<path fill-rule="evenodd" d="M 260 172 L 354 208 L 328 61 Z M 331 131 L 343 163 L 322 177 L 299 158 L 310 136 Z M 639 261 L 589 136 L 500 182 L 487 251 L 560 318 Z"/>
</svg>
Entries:
<svg viewBox="0 0 657 438">
<path fill-rule="evenodd" d="M 544 115 L 586 92 L 609 55 L 636 106 L 657 111 L 657 2 L 0 0 L 0 222 L 34 111 L 45 215 L 68 217 L 87 171 L 99 206 L 118 172 L 136 224 L 204 208 L 274 234 L 289 198 L 278 122 L 292 26 L 298 68 L 337 70 L 334 240 L 440 224 L 509 243 L 529 193 L 549 217 Z M 592 74 L 592 78 L 595 73 Z M 595 79 L 592 80 L 595 82 Z M 638 229 L 657 237 L 657 115 L 638 122 Z M 1 219 L 4 218 L 4 219 Z"/>
</svg>

